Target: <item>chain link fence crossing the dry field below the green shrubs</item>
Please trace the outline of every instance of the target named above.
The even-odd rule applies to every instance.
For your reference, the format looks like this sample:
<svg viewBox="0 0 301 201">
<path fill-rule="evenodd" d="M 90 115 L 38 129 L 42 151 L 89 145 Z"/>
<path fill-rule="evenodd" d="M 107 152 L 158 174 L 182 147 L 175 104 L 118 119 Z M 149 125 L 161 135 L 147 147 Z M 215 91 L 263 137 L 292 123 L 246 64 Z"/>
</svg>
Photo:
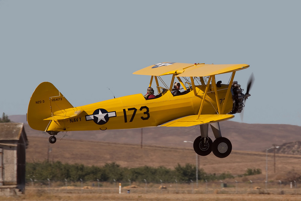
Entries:
<svg viewBox="0 0 301 201">
<path fill-rule="evenodd" d="M 297 182 L 131 182 L 30 181 L 26 187 L 49 193 L 225 193 L 301 194 Z"/>
</svg>

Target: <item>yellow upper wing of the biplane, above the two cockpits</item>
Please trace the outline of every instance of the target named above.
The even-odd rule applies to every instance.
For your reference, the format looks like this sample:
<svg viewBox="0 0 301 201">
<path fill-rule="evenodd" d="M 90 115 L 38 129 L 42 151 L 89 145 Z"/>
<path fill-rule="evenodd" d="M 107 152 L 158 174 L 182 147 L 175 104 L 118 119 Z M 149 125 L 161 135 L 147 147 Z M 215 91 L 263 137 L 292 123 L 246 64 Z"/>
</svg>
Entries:
<svg viewBox="0 0 301 201">
<path fill-rule="evenodd" d="M 177 75 L 178 77 L 203 77 L 239 71 L 248 67 L 248 64 L 185 64 L 165 62 L 148 66 L 133 74 L 154 76 L 179 74 Z"/>
</svg>

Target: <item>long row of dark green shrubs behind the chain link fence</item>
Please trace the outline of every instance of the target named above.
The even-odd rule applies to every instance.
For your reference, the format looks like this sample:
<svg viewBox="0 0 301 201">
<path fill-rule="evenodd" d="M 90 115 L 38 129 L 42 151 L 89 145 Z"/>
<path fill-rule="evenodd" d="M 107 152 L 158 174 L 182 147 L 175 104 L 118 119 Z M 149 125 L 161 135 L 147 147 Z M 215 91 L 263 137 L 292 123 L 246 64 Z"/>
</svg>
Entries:
<svg viewBox="0 0 301 201">
<path fill-rule="evenodd" d="M 203 169 L 198 170 L 198 179 L 200 181 L 223 180 L 225 178 L 234 178 L 229 173 L 207 174 Z M 143 182 L 146 179 L 149 182 L 190 182 L 196 179 L 196 166 L 186 164 L 177 165 L 174 169 L 163 166 L 153 168 L 149 166 L 138 168 L 120 167 L 116 163 L 107 163 L 102 167 L 84 166 L 82 164 L 63 164 L 57 162 L 34 162 L 26 163 L 26 181 L 37 180 L 45 181 L 137 181 Z"/>
</svg>

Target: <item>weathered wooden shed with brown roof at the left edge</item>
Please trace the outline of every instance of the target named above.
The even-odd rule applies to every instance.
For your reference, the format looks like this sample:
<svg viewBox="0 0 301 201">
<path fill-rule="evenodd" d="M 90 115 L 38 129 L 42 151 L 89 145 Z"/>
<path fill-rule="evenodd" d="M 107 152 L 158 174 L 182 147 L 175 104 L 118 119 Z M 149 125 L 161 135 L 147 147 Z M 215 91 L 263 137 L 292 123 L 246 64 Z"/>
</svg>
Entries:
<svg viewBox="0 0 301 201">
<path fill-rule="evenodd" d="M 27 145 L 23 123 L 0 123 L 0 195 L 24 192 Z"/>
</svg>

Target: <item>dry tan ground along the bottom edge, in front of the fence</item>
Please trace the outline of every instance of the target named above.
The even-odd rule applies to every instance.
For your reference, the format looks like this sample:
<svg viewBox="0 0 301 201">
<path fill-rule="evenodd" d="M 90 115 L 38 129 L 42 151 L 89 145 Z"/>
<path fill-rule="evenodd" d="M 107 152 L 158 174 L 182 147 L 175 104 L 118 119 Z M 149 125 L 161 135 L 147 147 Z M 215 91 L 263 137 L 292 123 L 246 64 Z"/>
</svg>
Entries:
<svg viewBox="0 0 301 201">
<path fill-rule="evenodd" d="M 19 197 L 6 197 L 1 196 L 0 200 L 154 200 L 154 201 L 166 201 L 166 200 L 256 200 L 256 201 L 288 201 L 288 200 L 300 200 L 300 195 L 280 195 L 280 194 L 227 194 L 227 193 L 94 193 L 92 191 L 85 192 L 81 189 L 75 189 L 68 192 L 53 192 L 54 189 L 37 189 L 27 188 L 26 193 Z"/>
</svg>

